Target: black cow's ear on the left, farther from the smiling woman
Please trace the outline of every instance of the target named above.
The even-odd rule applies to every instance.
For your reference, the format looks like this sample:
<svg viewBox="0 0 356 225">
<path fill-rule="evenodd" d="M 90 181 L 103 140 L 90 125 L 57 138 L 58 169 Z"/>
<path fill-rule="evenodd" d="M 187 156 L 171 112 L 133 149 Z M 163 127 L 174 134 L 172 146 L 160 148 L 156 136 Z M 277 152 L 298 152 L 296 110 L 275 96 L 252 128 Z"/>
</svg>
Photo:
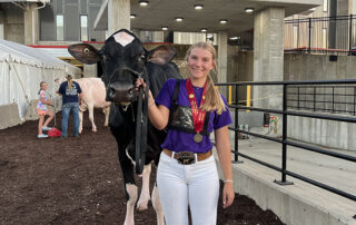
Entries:
<svg viewBox="0 0 356 225">
<path fill-rule="evenodd" d="M 79 61 L 92 65 L 100 60 L 99 51 L 88 43 L 76 43 L 68 47 L 69 53 Z"/>
</svg>

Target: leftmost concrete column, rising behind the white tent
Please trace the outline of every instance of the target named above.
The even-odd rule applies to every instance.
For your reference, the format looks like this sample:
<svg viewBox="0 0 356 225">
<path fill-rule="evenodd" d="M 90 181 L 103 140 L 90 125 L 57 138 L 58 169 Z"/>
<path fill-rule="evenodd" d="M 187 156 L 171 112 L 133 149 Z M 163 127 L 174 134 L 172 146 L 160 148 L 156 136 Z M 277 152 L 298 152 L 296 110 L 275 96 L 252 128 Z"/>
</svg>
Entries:
<svg viewBox="0 0 356 225">
<path fill-rule="evenodd" d="M 28 3 L 28 8 L 23 11 L 24 25 L 24 45 L 38 45 L 39 39 L 39 20 L 37 3 Z"/>
</svg>

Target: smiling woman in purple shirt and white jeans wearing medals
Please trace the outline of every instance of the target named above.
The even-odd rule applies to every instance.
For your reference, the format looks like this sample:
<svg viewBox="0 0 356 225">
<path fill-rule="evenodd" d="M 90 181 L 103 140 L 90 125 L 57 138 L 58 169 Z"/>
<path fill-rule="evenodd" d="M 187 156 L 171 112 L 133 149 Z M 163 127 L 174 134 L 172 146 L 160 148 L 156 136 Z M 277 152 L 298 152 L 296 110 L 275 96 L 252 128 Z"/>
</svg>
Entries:
<svg viewBox="0 0 356 225">
<path fill-rule="evenodd" d="M 167 80 L 156 100 L 149 91 L 148 115 L 157 129 L 168 127 L 161 145 L 157 187 L 168 225 L 214 225 L 217 219 L 219 177 L 211 153 L 210 133 L 225 177 L 224 208 L 234 202 L 231 150 L 228 127 L 231 123 L 226 99 L 214 87 L 210 71 L 216 68 L 216 50 L 198 42 L 187 51 L 187 80 Z M 178 85 L 177 85 L 178 82 Z M 136 87 L 146 84 L 140 79 Z"/>
</svg>

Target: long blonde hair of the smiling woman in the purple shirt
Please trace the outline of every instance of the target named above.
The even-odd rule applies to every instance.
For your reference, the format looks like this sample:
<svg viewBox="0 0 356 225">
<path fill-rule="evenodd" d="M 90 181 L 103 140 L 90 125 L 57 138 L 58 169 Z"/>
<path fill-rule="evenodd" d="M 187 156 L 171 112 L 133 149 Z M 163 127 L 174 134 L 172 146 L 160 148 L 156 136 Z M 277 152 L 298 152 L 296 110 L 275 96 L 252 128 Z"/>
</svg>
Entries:
<svg viewBox="0 0 356 225">
<path fill-rule="evenodd" d="M 201 49 L 208 50 L 211 53 L 214 70 L 217 71 L 216 50 L 214 46 L 210 42 L 197 42 L 190 46 L 186 55 L 187 61 L 189 59 L 191 50 L 195 48 L 201 48 Z M 226 110 L 221 95 L 219 90 L 215 87 L 210 75 L 208 75 L 207 77 L 207 90 L 205 96 L 205 102 L 201 109 L 205 111 L 217 110 L 218 115 L 220 115 L 222 111 Z"/>
</svg>

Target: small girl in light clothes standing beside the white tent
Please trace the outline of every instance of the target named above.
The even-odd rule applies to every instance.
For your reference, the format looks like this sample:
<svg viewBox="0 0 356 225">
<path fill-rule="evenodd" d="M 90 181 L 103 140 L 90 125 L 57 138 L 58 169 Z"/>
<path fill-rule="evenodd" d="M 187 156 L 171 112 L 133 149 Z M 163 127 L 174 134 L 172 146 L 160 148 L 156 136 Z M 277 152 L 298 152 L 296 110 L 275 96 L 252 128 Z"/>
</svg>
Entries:
<svg viewBox="0 0 356 225">
<path fill-rule="evenodd" d="M 42 130 L 50 130 L 51 128 L 48 127 L 48 124 L 53 119 L 53 114 L 48 109 L 47 106 L 52 106 L 51 99 L 48 97 L 46 90 L 47 90 L 47 84 L 44 81 L 40 82 L 40 91 L 38 92 L 40 96 L 40 99 L 37 104 L 37 114 L 39 116 L 38 120 L 38 138 L 46 138 L 48 135 L 44 135 Z M 49 116 L 47 120 L 44 121 L 44 116 Z M 43 124 L 44 121 L 44 124 Z"/>
</svg>

